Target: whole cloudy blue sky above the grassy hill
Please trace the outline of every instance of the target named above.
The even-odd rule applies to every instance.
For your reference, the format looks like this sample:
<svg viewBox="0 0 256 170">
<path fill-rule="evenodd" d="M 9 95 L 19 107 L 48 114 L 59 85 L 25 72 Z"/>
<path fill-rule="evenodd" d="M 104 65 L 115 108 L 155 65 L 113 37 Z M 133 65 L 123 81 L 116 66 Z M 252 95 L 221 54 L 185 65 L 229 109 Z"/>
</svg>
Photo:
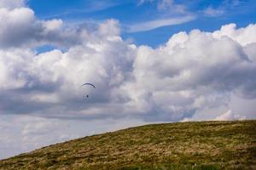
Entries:
<svg viewBox="0 0 256 170">
<path fill-rule="evenodd" d="M 0 159 L 149 123 L 255 119 L 255 7 L 0 0 Z"/>
</svg>

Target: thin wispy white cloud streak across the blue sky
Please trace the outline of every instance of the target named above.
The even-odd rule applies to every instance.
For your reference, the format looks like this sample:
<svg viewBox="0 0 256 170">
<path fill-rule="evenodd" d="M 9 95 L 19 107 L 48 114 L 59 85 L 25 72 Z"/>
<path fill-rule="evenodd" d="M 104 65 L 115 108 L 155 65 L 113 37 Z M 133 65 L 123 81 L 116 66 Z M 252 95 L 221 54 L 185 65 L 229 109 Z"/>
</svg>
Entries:
<svg viewBox="0 0 256 170">
<path fill-rule="evenodd" d="M 139 24 L 130 26 L 129 32 L 138 32 L 138 31 L 150 31 L 161 26 L 173 26 L 189 22 L 190 20 L 195 20 L 195 16 L 187 15 L 177 18 L 167 18 L 167 19 L 157 19 L 149 20 Z"/>
</svg>

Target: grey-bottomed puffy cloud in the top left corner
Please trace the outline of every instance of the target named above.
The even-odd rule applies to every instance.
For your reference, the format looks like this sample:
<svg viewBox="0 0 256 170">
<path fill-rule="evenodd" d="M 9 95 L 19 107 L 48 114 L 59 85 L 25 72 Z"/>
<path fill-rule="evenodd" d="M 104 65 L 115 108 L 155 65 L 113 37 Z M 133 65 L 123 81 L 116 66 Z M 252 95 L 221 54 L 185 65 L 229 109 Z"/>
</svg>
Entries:
<svg viewBox="0 0 256 170">
<path fill-rule="evenodd" d="M 0 6 L 0 48 L 34 48 L 44 44 L 69 48 L 88 38 L 81 27 L 64 26 L 62 20 L 37 20 L 31 8 Z"/>
</svg>

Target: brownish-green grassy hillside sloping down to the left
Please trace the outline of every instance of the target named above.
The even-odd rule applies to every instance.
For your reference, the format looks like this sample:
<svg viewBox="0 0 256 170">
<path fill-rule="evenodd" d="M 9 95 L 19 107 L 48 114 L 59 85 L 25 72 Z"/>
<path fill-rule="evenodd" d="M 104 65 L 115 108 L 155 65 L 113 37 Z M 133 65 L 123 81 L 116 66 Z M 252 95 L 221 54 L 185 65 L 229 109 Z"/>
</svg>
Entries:
<svg viewBox="0 0 256 170">
<path fill-rule="evenodd" d="M 2 160 L 0 169 L 256 169 L 256 121 L 131 127 Z"/>
</svg>

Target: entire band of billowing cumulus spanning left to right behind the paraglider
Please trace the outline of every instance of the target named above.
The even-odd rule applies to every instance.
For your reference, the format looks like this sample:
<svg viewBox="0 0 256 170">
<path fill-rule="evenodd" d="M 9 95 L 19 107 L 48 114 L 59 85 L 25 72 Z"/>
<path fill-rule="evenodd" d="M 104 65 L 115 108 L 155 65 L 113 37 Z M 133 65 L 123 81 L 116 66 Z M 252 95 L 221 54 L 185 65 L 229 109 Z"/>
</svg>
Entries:
<svg viewBox="0 0 256 170">
<path fill-rule="evenodd" d="M 55 30 L 61 21 L 46 25 Z M 125 42 L 118 21 L 107 20 L 67 52 L 3 48 L 0 112 L 179 121 L 202 108 L 229 105 L 231 94 L 254 99 L 255 28 L 230 24 L 214 32 L 179 32 L 151 48 Z M 95 83 L 96 90 L 80 88 L 84 82 Z"/>
</svg>

